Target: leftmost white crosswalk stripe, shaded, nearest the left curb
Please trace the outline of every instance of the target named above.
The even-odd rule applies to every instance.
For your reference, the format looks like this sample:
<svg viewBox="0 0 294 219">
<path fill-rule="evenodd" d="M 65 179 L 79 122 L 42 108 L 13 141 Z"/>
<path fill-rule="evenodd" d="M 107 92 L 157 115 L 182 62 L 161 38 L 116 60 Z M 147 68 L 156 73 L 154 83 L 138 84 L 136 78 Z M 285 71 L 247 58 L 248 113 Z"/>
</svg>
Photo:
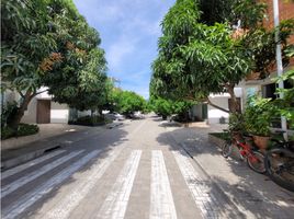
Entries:
<svg viewBox="0 0 294 219">
<path fill-rule="evenodd" d="M 54 151 L 54 152 L 50 152 L 46 155 L 42 155 L 41 158 L 37 158 L 37 159 L 34 159 L 27 163 L 24 163 L 22 165 L 18 165 L 15 168 L 12 168 L 10 170 L 7 170 L 4 171 L 3 173 L 1 173 L 1 180 L 4 180 L 11 175 L 14 175 L 16 173 L 20 173 L 22 171 L 24 171 L 25 169 L 29 169 L 33 165 L 36 165 L 38 163 L 42 163 L 43 161 L 46 161 L 46 160 L 49 160 L 50 158 L 54 158 L 56 155 L 59 155 L 60 153 L 65 152 L 65 150 L 58 150 L 58 151 Z"/>
</svg>

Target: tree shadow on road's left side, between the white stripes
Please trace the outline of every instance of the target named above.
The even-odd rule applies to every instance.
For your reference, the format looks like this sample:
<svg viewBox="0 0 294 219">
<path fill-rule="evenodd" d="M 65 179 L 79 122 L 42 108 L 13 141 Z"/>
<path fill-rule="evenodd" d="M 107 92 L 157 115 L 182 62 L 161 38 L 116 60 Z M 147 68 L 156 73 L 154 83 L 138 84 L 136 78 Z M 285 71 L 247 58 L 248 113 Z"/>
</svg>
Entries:
<svg viewBox="0 0 294 219">
<path fill-rule="evenodd" d="M 79 161 L 79 159 L 82 159 L 84 155 L 89 154 L 92 151 L 100 150 L 99 154 L 92 159 L 90 159 L 84 165 L 81 165 L 77 171 L 75 171 L 72 174 L 70 174 L 67 178 L 61 181 L 57 186 L 55 186 L 49 193 L 45 194 L 42 196 L 37 201 L 32 204 L 25 211 L 20 214 L 18 218 L 31 218 L 33 217 L 42 207 L 49 200 L 53 199 L 58 193 L 59 188 L 63 186 L 67 186 L 69 184 L 75 183 L 78 181 L 78 178 L 74 177 L 75 174 L 82 174 L 89 170 L 91 170 L 92 165 L 97 162 L 100 162 L 102 159 L 108 159 L 110 155 L 110 151 L 115 150 L 117 147 L 121 147 L 124 142 L 128 140 L 127 135 L 128 131 L 126 131 L 124 128 L 127 127 L 128 124 L 124 124 L 124 126 L 117 126 L 112 129 L 103 129 L 95 131 L 95 128 L 92 130 L 87 130 L 84 132 L 80 134 L 80 139 L 75 136 L 75 134 L 70 135 L 67 134 L 63 138 L 63 142 L 65 143 L 64 147 L 61 148 L 63 150 L 66 150 L 65 153 L 70 153 L 72 151 L 80 151 L 84 150 L 81 154 L 78 157 L 68 160 L 65 162 L 63 165 L 60 165 L 59 170 L 53 170 L 48 172 L 47 174 L 44 174 L 36 180 L 34 180 L 34 183 L 26 184 L 22 186 L 20 189 L 16 189 L 15 192 L 9 194 L 4 198 L 1 199 L 1 209 L 2 212 L 5 210 L 8 206 L 13 204 L 14 201 L 18 201 L 20 198 L 25 197 L 27 193 L 31 191 L 34 191 L 36 186 L 42 186 L 46 180 L 44 178 L 50 178 L 55 174 L 58 174 L 63 169 L 70 168 L 71 164 L 75 162 Z M 60 137 L 61 138 L 61 137 Z M 64 153 L 60 154 L 60 157 L 65 155 Z M 56 158 L 52 158 L 47 160 L 47 163 L 54 162 Z M 42 166 L 42 164 L 39 164 Z M 26 173 L 19 173 L 15 175 L 12 175 L 3 181 L 4 184 L 8 184 L 8 182 L 11 182 L 15 178 L 19 178 L 27 172 L 33 172 L 36 170 L 38 166 L 32 166 L 25 170 Z M 15 199 L 15 193 L 18 194 L 18 199 Z M 42 193 L 45 193 L 45 191 L 42 191 Z M 32 197 L 34 198 L 34 197 Z"/>
</svg>

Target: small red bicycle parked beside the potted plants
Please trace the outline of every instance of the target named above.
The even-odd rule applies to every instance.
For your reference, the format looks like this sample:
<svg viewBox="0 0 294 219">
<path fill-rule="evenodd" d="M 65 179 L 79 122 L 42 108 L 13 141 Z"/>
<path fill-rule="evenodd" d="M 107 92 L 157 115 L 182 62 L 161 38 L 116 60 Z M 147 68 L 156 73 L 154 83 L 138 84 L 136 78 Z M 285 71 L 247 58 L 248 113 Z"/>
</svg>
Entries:
<svg viewBox="0 0 294 219">
<path fill-rule="evenodd" d="M 241 160 L 246 160 L 248 166 L 257 173 L 265 173 L 264 155 L 259 152 L 253 145 L 248 143 L 244 138 L 250 138 L 251 136 L 241 136 L 240 138 L 230 135 L 230 139 L 222 147 L 222 154 L 228 158 L 231 154 L 233 147 L 237 147 Z"/>
</svg>

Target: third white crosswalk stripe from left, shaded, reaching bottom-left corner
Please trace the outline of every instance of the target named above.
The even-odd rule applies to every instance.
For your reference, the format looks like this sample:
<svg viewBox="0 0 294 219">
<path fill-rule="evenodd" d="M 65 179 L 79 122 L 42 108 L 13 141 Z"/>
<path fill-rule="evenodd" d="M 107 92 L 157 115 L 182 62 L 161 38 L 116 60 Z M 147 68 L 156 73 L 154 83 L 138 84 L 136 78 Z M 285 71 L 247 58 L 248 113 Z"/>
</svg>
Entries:
<svg viewBox="0 0 294 219">
<path fill-rule="evenodd" d="M 60 183 L 63 183 L 66 178 L 68 178 L 76 171 L 81 169 L 86 163 L 88 163 L 91 159 L 98 155 L 100 150 L 92 151 L 78 160 L 77 162 L 70 164 L 69 168 L 64 169 L 57 175 L 53 176 L 46 183 L 42 184 L 39 187 L 36 187 L 35 191 L 32 191 L 24 195 L 22 198 L 18 199 L 14 205 L 9 206 L 5 209 L 2 209 L 2 218 L 3 219 L 13 219 L 18 217 L 20 214 L 25 211 L 30 206 L 35 204 L 38 199 L 41 199 L 44 195 L 48 194 L 53 191 L 53 188 Z"/>
</svg>

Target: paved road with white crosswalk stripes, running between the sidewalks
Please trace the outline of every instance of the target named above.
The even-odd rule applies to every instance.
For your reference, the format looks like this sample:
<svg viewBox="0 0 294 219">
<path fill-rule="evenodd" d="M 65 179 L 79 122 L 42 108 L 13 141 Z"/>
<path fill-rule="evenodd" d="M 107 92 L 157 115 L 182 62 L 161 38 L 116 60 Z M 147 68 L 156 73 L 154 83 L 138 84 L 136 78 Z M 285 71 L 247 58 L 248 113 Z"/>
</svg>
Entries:
<svg viewBox="0 0 294 219">
<path fill-rule="evenodd" d="M 158 117 L 126 120 L 3 172 L 1 216 L 245 218 Z"/>
</svg>

